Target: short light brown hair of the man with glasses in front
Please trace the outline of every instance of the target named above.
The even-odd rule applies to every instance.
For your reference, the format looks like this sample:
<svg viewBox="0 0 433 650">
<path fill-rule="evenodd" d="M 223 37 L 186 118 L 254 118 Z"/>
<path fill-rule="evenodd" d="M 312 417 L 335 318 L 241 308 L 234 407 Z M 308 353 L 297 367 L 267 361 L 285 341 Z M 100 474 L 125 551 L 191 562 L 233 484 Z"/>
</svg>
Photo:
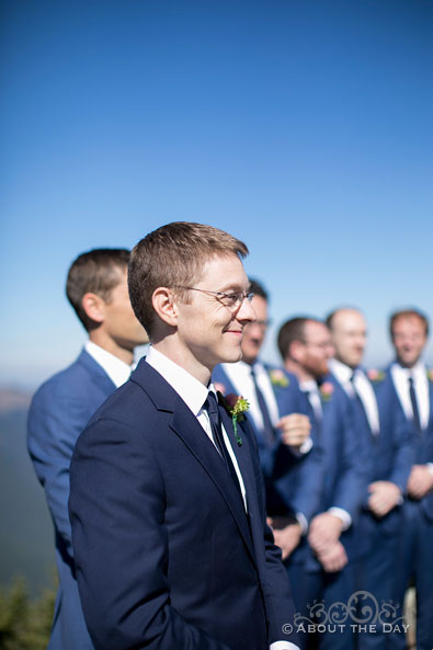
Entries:
<svg viewBox="0 0 433 650">
<path fill-rule="evenodd" d="M 150 335 L 155 289 L 197 282 L 204 264 L 214 255 L 244 258 L 248 252 L 243 241 L 203 224 L 174 221 L 149 232 L 134 247 L 129 261 L 129 298 L 137 319 Z"/>
</svg>

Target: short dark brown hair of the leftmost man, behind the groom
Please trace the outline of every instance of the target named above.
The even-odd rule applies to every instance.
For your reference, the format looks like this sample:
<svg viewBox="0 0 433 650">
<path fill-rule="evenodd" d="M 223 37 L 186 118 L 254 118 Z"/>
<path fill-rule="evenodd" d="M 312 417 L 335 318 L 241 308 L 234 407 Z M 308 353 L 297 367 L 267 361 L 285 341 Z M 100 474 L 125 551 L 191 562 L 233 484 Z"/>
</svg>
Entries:
<svg viewBox="0 0 433 650">
<path fill-rule="evenodd" d="M 121 280 L 118 271 L 126 271 L 129 255 L 127 249 L 94 249 L 81 253 L 72 262 L 66 282 L 66 295 L 88 332 L 96 327 L 96 323 L 82 308 L 84 294 L 96 294 L 109 303 L 111 292 Z"/>
</svg>

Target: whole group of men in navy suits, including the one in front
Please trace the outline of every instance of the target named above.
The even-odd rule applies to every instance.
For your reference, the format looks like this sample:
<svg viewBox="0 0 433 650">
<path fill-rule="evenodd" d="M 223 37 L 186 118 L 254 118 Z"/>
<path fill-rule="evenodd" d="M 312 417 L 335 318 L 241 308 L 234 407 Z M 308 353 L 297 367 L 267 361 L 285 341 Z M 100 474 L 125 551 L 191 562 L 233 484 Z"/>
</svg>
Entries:
<svg viewBox="0 0 433 650">
<path fill-rule="evenodd" d="M 270 367 L 269 297 L 247 253 L 175 223 L 70 269 L 89 341 L 29 417 L 56 532 L 50 650 L 403 648 L 402 612 L 380 607 L 411 579 L 431 648 L 428 321 L 394 315 L 396 361 L 369 378 L 360 311 L 294 318 Z"/>
</svg>

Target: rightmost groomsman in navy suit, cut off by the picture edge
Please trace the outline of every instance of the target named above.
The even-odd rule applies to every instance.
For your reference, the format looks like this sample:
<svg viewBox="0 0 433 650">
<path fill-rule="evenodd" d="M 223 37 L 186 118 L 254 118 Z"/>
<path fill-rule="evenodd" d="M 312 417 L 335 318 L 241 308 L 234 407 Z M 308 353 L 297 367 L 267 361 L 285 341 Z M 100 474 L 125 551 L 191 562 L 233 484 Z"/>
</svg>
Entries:
<svg viewBox="0 0 433 650">
<path fill-rule="evenodd" d="M 403 602 L 410 580 L 417 590 L 417 648 L 431 650 L 433 643 L 433 373 L 425 367 L 422 352 L 428 342 L 429 321 L 415 309 L 397 311 L 390 318 L 396 360 L 379 376 L 381 389 L 397 396 L 397 409 L 412 430 L 414 464 L 407 486 L 401 556 L 396 600 Z M 401 612 L 400 612 L 401 614 Z M 403 649 L 404 635 L 392 638 Z"/>
</svg>

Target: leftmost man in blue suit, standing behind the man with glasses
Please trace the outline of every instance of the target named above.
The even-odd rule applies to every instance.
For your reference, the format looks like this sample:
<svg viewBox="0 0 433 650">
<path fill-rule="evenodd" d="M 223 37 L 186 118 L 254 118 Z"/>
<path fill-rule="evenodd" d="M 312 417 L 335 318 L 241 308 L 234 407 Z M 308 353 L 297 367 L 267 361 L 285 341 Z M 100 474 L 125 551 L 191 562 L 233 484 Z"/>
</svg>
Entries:
<svg viewBox="0 0 433 650">
<path fill-rule="evenodd" d="M 44 487 L 56 535 L 59 586 L 49 650 L 93 648 L 82 615 L 68 517 L 69 464 L 78 435 L 94 411 L 130 375 L 134 347 L 147 335 L 130 306 L 129 251 L 99 249 L 79 255 L 68 273 L 67 296 L 89 333 L 68 368 L 33 398 L 29 452 Z"/>
</svg>

